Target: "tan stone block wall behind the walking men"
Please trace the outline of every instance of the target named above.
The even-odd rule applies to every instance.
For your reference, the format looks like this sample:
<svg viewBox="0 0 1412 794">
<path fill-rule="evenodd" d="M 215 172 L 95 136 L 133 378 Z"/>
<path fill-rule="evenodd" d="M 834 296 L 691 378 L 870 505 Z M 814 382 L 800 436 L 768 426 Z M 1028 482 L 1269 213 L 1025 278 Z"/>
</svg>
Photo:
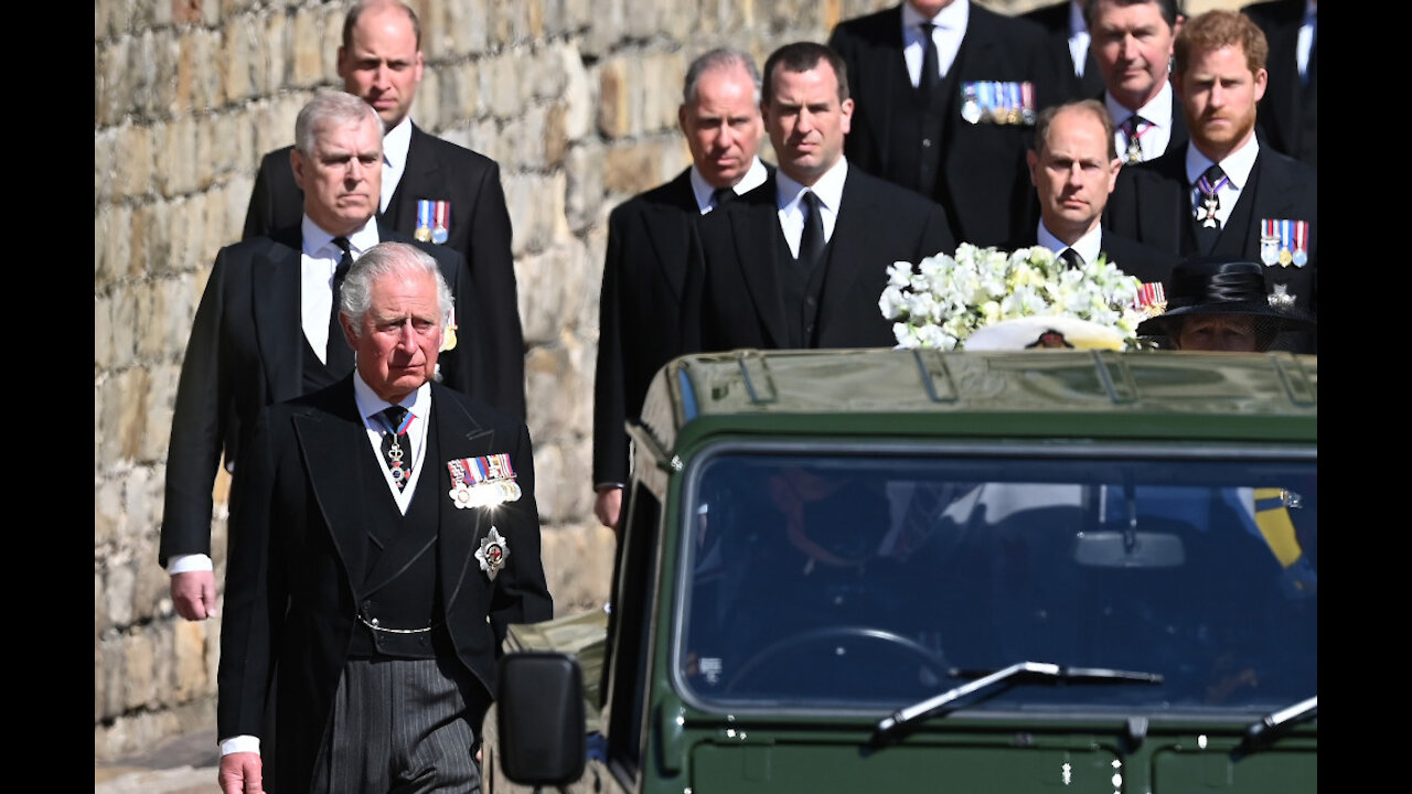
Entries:
<svg viewBox="0 0 1412 794">
<path fill-rule="evenodd" d="M 887 0 L 412 0 L 412 116 L 501 165 L 514 223 L 544 561 L 559 615 L 607 598 L 592 511 L 597 294 L 609 211 L 689 162 L 686 64 L 758 62 Z M 1035 1 L 981 3 L 1001 11 Z M 109 760 L 215 723 L 220 619 L 181 620 L 157 565 L 172 401 L 191 321 L 236 242 L 263 153 L 339 88 L 346 1 L 97 0 L 93 8 L 93 729 Z M 768 140 L 765 151 L 768 155 Z M 226 492 L 213 548 L 225 572 Z"/>
</svg>

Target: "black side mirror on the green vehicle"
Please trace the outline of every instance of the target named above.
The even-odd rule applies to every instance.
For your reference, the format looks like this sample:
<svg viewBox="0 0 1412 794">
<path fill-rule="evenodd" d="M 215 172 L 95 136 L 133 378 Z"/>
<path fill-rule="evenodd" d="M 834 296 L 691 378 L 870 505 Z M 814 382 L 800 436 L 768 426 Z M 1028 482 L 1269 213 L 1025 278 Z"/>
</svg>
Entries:
<svg viewBox="0 0 1412 794">
<path fill-rule="evenodd" d="M 579 663 L 562 653 L 510 653 L 500 658 L 497 688 L 496 729 L 505 777 L 535 787 L 579 780 L 587 757 Z"/>
</svg>

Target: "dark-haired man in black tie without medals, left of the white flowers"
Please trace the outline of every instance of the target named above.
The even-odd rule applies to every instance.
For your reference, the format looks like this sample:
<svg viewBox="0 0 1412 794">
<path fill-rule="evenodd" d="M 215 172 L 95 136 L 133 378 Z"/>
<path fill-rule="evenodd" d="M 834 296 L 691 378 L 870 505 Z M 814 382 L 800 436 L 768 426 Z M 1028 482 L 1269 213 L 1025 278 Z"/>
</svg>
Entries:
<svg viewBox="0 0 1412 794">
<path fill-rule="evenodd" d="M 887 268 L 955 250 L 942 208 L 843 155 L 853 99 L 833 49 L 801 41 L 772 52 L 760 109 L 779 165 L 700 219 L 689 349 L 894 346 L 878 308 Z"/>
</svg>

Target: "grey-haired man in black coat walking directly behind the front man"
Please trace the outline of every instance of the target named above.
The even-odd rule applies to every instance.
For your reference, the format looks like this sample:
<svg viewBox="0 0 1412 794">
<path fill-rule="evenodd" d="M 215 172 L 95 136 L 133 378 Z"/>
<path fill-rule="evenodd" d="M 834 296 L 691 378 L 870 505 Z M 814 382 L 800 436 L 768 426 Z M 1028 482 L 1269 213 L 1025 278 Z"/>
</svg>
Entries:
<svg viewBox="0 0 1412 794">
<path fill-rule="evenodd" d="M 210 511 L 222 454 L 233 470 L 260 408 L 353 369 L 332 316 L 342 246 L 353 257 L 380 240 L 412 242 L 374 219 L 381 133 L 377 114 L 356 96 L 315 96 L 295 120 L 289 165 L 302 188 L 302 220 L 216 254 L 176 386 L 158 552 L 174 606 L 188 620 L 215 613 Z M 445 246 L 417 244 L 433 251 L 457 314 L 469 316 L 466 261 Z M 467 394 L 483 381 L 477 342 L 450 329 L 439 359 L 445 383 Z"/>
</svg>

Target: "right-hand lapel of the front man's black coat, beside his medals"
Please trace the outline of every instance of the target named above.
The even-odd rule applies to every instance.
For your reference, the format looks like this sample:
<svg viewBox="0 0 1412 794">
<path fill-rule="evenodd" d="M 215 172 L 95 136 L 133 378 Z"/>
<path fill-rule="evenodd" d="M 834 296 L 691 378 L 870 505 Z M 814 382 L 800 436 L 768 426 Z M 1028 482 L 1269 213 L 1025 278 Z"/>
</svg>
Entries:
<svg viewBox="0 0 1412 794">
<path fill-rule="evenodd" d="M 432 384 L 432 413 L 441 459 L 426 459 L 426 470 L 422 472 L 418 487 L 435 487 L 438 492 L 436 507 L 441 524 L 438 550 L 441 554 L 436 564 L 441 574 L 442 602 L 446 605 L 446 612 L 450 612 L 466 578 L 486 575 L 480 571 L 476 550 L 480 548 L 481 538 L 490 533 L 493 510 L 456 507 L 449 496 L 450 470 L 446 468 L 446 462 L 496 452 L 496 434 L 476 421 L 459 400 L 455 400 L 435 383 Z M 515 550 L 510 548 L 508 552 L 514 554 Z"/>
</svg>

